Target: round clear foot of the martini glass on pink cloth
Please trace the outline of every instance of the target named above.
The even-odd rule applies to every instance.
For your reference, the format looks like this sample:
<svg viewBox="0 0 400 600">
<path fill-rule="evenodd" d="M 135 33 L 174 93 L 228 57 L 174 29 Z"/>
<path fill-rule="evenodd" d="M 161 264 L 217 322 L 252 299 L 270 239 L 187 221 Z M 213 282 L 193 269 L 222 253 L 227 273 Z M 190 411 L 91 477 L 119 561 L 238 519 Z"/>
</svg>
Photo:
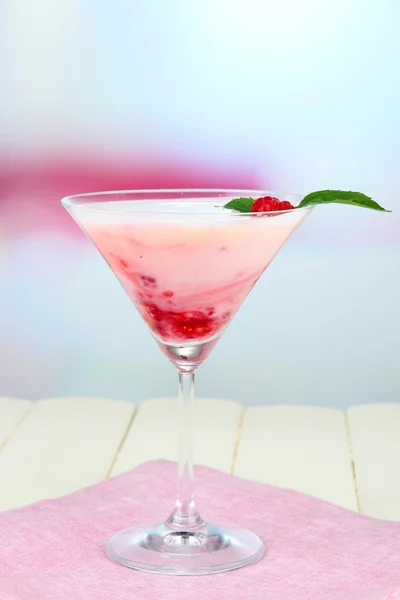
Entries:
<svg viewBox="0 0 400 600">
<path fill-rule="evenodd" d="M 116 562 L 151 573 L 206 575 L 249 565 L 264 550 L 254 533 L 205 524 L 194 531 L 178 531 L 167 524 L 138 531 L 130 528 L 114 535 L 107 551 Z"/>
</svg>

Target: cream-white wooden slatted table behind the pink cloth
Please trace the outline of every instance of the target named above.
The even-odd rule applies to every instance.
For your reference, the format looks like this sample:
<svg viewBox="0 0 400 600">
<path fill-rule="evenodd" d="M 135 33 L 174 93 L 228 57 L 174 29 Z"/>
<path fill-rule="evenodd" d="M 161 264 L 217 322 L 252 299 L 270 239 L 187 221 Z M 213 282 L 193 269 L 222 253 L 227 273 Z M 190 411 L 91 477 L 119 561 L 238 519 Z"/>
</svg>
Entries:
<svg viewBox="0 0 400 600">
<path fill-rule="evenodd" d="M 174 460 L 175 427 L 170 398 L 0 398 L 0 510 Z M 400 521 L 400 403 L 344 413 L 198 399 L 195 460 Z"/>
</svg>

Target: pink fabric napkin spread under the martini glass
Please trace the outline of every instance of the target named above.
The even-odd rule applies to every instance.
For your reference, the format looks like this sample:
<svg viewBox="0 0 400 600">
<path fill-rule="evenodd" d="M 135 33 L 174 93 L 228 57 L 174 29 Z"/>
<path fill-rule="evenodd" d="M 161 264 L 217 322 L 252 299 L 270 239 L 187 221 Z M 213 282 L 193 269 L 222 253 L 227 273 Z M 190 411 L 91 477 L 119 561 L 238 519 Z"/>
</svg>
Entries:
<svg viewBox="0 0 400 600">
<path fill-rule="evenodd" d="M 173 463 L 147 463 L 70 496 L 0 514 L 1 600 L 400 600 L 400 523 L 201 467 L 202 514 L 258 533 L 264 557 L 200 577 L 113 563 L 104 549 L 111 534 L 169 513 L 175 470 Z"/>
</svg>

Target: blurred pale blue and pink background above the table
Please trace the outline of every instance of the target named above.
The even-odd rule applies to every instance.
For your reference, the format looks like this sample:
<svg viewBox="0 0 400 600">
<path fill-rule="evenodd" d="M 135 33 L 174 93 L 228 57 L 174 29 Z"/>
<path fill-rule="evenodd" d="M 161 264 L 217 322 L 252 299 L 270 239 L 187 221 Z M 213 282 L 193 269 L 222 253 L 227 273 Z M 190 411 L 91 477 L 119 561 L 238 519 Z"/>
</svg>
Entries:
<svg viewBox="0 0 400 600">
<path fill-rule="evenodd" d="M 60 205 L 154 187 L 364 191 L 316 209 L 198 394 L 400 398 L 398 0 L 3 0 L 0 395 L 139 401 L 172 366 Z"/>
</svg>

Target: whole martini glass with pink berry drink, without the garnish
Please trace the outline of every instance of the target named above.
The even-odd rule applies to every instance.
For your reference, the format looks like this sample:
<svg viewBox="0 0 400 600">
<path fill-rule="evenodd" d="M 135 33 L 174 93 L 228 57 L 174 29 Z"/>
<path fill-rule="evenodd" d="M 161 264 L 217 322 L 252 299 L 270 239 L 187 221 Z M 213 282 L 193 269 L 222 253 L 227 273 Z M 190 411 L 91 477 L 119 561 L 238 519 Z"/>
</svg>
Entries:
<svg viewBox="0 0 400 600">
<path fill-rule="evenodd" d="M 310 208 L 238 213 L 255 190 L 142 190 L 69 196 L 64 207 L 92 240 L 178 372 L 178 490 L 161 524 L 128 528 L 108 554 L 131 568 L 218 573 L 258 560 L 263 543 L 241 527 L 200 516 L 193 493 L 194 377 L 258 278 Z M 297 204 L 300 197 L 273 194 Z"/>
</svg>

